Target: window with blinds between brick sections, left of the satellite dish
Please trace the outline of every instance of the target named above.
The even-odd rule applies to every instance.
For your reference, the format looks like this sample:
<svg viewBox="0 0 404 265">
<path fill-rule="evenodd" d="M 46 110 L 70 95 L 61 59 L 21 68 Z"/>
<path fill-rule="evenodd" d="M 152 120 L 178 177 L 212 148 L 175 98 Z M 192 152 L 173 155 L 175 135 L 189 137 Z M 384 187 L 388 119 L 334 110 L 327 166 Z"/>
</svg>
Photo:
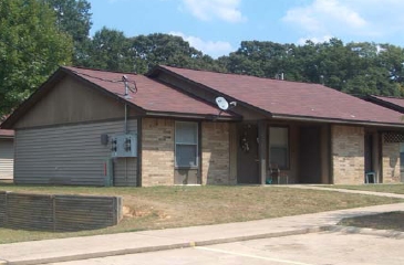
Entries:
<svg viewBox="0 0 404 265">
<path fill-rule="evenodd" d="M 198 166 L 197 123 L 175 123 L 175 166 L 178 168 Z"/>
</svg>

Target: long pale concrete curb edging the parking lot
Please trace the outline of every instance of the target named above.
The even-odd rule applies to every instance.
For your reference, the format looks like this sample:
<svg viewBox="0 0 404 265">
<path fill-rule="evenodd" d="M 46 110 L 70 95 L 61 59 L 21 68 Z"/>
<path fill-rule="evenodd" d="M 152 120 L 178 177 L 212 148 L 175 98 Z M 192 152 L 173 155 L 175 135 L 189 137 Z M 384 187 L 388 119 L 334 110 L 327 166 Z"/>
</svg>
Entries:
<svg viewBox="0 0 404 265">
<path fill-rule="evenodd" d="M 60 263 L 60 262 L 72 262 L 72 261 L 82 261 L 82 259 L 97 258 L 97 257 L 138 254 L 138 253 L 157 252 L 157 251 L 170 251 L 170 250 L 187 248 L 187 247 L 195 247 L 195 246 L 207 246 L 207 245 L 234 243 L 234 242 L 240 242 L 240 241 L 262 240 L 262 239 L 281 237 L 281 236 L 288 236 L 288 235 L 309 234 L 309 233 L 317 233 L 317 232 L 322 232 L 322 231 L 324 231 L 323 227 L 314 226 L 314 227 L 309 227 L 309 229 L 299 229 L 299 230 L 284 231 L 284 232 L 234 236 L 234 237 L 206 240 L 206 241 L 193 241 L 193 242 L 170 244 L 170 245 L 146 246 L 146 247 L 126 248 L 126 250 L 97 252 L 97 253 L 86 253 L 86 254 L 59 256 L 59 257 L 35 258 L 35 259 L 15 261 L 15 262 L 7 262 L 7 261 L 0 259 L 0 265 L 37 265 L 37 264 L 49 264 L 49 263 Z"/>
</svg>

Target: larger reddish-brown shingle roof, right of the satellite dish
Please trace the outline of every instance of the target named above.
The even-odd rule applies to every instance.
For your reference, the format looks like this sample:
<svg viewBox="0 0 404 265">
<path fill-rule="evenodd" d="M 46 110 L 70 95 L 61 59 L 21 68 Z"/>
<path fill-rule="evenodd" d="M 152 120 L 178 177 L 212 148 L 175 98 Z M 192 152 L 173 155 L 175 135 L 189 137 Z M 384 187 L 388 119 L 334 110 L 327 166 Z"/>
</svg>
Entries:
<svg viewBox="0 0 404 265">
<path fill-rule="evenodd" d="M 158 66 L 149 75 L 160 71 L 272 118 L 404 127 L 402 114 L 319 84 L 170 66 Z"/>
</svg>

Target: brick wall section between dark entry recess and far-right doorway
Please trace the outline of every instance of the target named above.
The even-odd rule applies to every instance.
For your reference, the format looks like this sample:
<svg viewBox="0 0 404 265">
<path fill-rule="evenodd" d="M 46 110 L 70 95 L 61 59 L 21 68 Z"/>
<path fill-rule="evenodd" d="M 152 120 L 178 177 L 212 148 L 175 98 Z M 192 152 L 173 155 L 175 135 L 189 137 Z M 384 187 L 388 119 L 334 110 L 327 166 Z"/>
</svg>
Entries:
<svg viewBox="0 0 404 265">
<path fill-rule="evenodd" d="M 333 125 L 331 142 L 334 184 L 364 183 L 364 128 Z"/>
</svg>

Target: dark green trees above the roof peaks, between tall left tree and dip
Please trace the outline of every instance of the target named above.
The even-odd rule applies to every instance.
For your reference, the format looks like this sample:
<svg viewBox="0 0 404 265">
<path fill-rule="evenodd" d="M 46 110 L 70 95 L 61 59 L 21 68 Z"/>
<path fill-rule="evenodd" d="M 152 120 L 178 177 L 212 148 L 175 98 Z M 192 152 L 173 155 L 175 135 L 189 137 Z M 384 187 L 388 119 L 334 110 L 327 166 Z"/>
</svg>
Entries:
<svg viewBox="0 0 404 265">
<path fill-rule="evenodd" d="M 220 70 L 210 56 L 179 36 L 156 33 L 126 38 L 123 32 L 107 28 L 95 33 L 89 60 L 81 66 L 144 74 L 157 64 Z"/>
</svg>

